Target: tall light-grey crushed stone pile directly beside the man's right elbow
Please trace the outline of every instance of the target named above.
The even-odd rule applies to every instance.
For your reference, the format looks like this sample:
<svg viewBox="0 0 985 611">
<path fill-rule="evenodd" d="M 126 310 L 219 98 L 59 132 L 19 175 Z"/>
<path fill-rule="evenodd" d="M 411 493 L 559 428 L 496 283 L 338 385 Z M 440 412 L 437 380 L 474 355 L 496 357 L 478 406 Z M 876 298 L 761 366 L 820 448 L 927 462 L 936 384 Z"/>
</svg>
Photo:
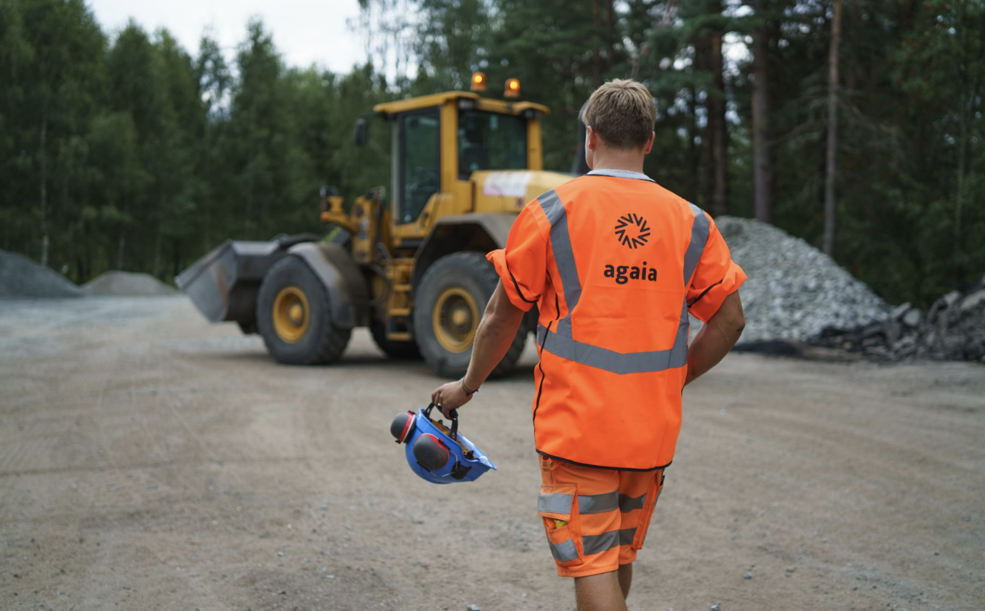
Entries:
<svg viewBox="0 0 985 611">
<path fill-rule="evenodd" d="M 754 219 L 722 216 L 715 225 L 749 276 L 740 289 L 746 311 L 740 344 L 806 341 L 826 328 L 888 317 L 886 302 L 803 239 Z"/>
</svg>

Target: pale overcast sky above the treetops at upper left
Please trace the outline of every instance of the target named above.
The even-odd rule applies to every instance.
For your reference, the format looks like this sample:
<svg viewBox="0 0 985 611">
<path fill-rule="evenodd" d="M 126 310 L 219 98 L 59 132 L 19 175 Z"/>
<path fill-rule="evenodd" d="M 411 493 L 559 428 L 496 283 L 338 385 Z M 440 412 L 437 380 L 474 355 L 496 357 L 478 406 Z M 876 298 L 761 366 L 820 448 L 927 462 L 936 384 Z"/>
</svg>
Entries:
<svg viewBox="0 0 985 611">
<path fill-rule="evenodd" d="M 359 17 L 358 0 L 87 0 L 110 36 L 131 17 L 149 33 L 166 28 L 192 56 L 202 32 L 212 35 L 232 58 L 246 37 L 246 22 L 257 15 L 274 34 L 274 44 L 289 66 L 317 63 L 333 72 L 349 72 L 365 61 L 362 36 L 347 20 Z"/>
</svg>

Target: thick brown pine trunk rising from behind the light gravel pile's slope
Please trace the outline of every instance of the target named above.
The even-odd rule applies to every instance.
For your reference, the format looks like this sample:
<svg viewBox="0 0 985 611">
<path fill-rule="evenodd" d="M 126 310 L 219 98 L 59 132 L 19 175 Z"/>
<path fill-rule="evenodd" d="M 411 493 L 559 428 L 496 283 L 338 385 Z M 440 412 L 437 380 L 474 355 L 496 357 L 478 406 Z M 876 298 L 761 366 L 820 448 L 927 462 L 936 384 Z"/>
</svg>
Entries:
<svg viewBox="0 0 985 611">
<path fill-rule="evenodd" d="M 763 10 L 762 0 L 755 3 L 756 17 Z M 753 201 L 755 218 L 773 222 L 772 164 L 769 151 L 769 93 L 766 71 L 767 35 L 765 20 L 753 34 Z"/>
</svg>

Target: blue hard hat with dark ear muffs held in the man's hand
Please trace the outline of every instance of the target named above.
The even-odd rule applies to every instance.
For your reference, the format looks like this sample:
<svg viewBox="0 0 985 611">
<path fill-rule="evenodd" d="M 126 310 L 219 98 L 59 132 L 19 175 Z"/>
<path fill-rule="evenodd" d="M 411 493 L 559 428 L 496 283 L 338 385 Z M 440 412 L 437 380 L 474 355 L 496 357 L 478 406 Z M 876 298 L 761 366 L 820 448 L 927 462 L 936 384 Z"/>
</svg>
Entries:
<svg viewBox="0 0 985 611">
<path fill-rule="evenodd" d="M 493 461 L 481 449 L 458 432 L 458 414 L 451 413 L 451 429 L 441 420 L 430 419 L 434 408 L 397 414 L 390 424 L 390 434 L 407 445 L 405 454 L 411 470 L 432 484 L 471 482 L 490 469 Z"/>
</svg>

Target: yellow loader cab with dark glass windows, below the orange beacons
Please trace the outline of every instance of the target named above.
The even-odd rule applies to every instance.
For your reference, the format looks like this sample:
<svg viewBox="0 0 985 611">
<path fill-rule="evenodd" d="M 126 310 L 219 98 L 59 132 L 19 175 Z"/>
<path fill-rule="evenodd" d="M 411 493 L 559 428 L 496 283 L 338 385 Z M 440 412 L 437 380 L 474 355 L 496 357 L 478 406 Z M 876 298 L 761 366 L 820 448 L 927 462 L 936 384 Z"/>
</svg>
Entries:
<svg viewBox="0 0 985 611">
<path fill-rule="evenodd" d="M 417 248 L 441 217 L 475 212 L 473 172 L 541 170 L 546 106 L 469 92 L 377 104 L 390 123 L 394 247 Z"/>
</svg>

